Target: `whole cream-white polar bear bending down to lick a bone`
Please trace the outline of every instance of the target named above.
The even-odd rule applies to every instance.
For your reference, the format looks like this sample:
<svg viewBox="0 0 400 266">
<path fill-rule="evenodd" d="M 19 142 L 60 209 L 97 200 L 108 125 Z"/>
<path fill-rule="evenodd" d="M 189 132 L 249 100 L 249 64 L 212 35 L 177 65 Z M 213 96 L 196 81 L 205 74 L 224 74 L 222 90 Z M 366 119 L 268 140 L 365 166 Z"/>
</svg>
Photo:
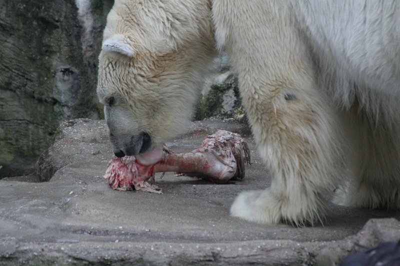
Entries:
<svg viewBox="0 0 400 266">
<path fill-rule="evenodd" d="M 330 198 L 400 208 L 397 0 L 115 0 L 97 93 L 116 156 L 184 132 L 221 49 L 272 177 L 232 216 L 303 226 Z"/>
</svg>

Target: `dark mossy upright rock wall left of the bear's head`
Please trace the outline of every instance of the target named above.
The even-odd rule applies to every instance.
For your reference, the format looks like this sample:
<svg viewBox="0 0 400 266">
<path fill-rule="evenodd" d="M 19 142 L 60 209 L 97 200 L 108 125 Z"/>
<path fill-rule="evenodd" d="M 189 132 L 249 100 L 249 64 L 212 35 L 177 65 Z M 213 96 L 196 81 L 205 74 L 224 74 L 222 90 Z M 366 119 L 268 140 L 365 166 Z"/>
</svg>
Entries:
<svg viewBox="0 0 400 266">
<path fill-rule="evenodd" d="M 101 116 L 97 56 L 112 4 L 0 1 L 0 178 L 31 171 L 61 121 Z"/>
</svg>

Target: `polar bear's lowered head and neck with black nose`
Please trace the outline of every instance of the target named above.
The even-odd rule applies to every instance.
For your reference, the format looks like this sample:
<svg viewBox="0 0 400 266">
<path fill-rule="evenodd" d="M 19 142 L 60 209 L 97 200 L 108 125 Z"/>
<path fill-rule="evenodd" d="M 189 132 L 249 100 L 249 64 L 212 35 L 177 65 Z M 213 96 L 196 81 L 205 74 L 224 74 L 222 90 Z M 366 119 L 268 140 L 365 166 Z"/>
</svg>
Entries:
<svg viewBox="0 0 400 266">
<path fill-rule="evenodd" d="M 97 95 L 116 156 L 145 153 L 184 132 L 214 45 L 207 0 L 115 0 Z"/>
</svg>

